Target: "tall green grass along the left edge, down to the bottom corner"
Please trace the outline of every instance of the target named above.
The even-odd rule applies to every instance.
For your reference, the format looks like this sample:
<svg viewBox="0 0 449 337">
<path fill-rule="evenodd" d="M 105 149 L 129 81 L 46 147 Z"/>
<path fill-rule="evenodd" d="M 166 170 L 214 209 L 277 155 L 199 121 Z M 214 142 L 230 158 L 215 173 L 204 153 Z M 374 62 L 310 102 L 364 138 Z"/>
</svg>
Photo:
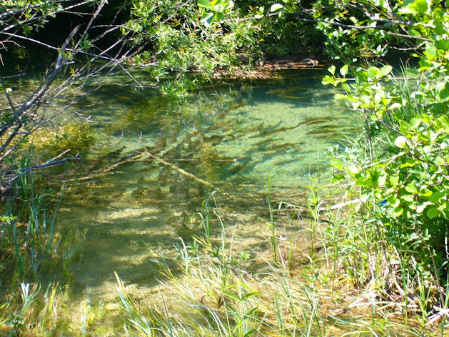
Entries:
<svg viewBox="0 0 449 337">
<path fill-rule="evenodd" d="M 61 287 L 53 281 L 43 290 L 41 279 L 49 270 L 54 280 L 64 275 L 78 238 L 62 240 L 57 228 L 64 188 L 52 195 L 41 173 L 23 164 L 0 209 L 0 336 L 53 336 L 62 323 Z"/>
</svg>

